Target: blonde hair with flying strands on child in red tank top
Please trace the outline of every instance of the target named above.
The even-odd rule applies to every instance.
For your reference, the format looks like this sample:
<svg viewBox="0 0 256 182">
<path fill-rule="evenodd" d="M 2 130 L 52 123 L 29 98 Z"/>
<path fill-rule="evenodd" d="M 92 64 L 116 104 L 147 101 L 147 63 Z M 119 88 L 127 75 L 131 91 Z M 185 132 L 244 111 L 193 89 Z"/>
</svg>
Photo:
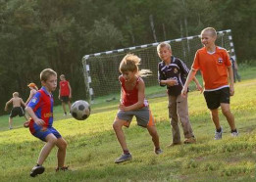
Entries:
<svg viewBox="0 0 256 182">
<path fill-rule="evenodd" d="M 138 69 L 141 59 L 133 54 L 127 54 L 120 63 L 119 70 L 121 73 L 126 71 L 135 71 L 137 75 L 143 77 L 148 76 L 151 73 L 150 69 Z"/>
</svg>

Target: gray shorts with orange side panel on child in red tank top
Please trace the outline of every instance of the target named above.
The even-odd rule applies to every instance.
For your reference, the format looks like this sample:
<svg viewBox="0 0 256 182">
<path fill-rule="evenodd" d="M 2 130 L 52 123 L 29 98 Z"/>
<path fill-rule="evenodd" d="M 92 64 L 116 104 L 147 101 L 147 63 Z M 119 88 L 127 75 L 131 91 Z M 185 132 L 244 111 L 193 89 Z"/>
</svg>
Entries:
<svg viewBox="0 0 256 182">
<path fill-rule="evenodd" d="M 142 126 L 142 127 L 147 127 L 147 126 L 154 126 L 155 121 L 154 118 L 151 114 L 151 111 L 148 109 L 148 107 L 144 107 L 138 110 L 130 111 L 130 112 L 124 112 L 119 110 L 117 117 L 121 120 L 126 120 L 127 123 L 125 126 L 129 126 L 133 115 L 135 115 L 136 120 L 137 120 L 137 125 Z"/>
</svg>

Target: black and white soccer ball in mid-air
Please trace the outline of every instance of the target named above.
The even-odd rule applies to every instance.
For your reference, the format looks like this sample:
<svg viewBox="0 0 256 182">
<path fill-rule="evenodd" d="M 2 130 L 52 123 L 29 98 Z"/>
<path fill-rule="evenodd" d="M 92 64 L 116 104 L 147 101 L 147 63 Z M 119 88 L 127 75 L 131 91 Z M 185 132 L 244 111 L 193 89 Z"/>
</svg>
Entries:
<svg viewBox="0 0 256 182">
<path fill-rule="evenodd" d="M 71 114 L 77 120 L 85 120 L 90 115 L 90 106 L 86 101 L 78 100 L 72 105 Z"/>
</svg>

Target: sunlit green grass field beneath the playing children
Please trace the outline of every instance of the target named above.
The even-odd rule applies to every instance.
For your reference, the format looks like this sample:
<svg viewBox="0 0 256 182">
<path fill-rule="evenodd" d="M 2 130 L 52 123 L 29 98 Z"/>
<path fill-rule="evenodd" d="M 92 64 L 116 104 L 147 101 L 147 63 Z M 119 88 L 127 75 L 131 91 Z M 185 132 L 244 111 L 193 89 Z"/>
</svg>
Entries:
<svg viewBox="0 0 256 182">
<path fill-rule="evenodd" d="M 189 93 L 189 114 L 197 143 L 166 148 L 171 127 L 167 98 L 149 97 L 164 153 L 156 156 L 147 131 L 132 121 L 125 129 L 133 159 L 115 164 L 121 147 L 112 129 L 118 100 L 92 106 L 85 121 L 64 117 L 54 108 L 54 126 L 68 141 L 67 164 L 72 171 L 55 172 L 56 148 L 44 162 L 45 173 L 30 178 L 43 146 L 23 128 L 23 118 L 14 118 L 15 129 L 8 129 L 8 115 L 0 117 L 0 181 L 256 181 L 256 67 L 240 67 L 242 82 L 235 83 L 231 111 L 239 137 L 230 137 L 228 122 L 221 114 L 223 140 L 215 141 L 214 125 L 203 95 Z M 161 92 L 164 92 L 163 89 Z"/>
</svg>

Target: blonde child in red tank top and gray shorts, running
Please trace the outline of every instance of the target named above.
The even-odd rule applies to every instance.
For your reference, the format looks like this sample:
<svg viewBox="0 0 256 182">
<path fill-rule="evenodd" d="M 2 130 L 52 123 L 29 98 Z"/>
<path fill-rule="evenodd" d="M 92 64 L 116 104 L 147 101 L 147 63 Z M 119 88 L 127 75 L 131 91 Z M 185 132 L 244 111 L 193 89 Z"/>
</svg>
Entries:
<svg viewBox="0 0 256 182">
<path fill-rule="evenodd" d="M 121 103 L 113 123 L 113 128 L 124 154 L 119 159 L 115 160 L 116 163 L 131 159 L 122 127 L 128 127 L 133 116 L 136 117 L 137 125 L 147 128 L 155 146 L 155 154 L 159 155 L 162 153 L 154 118 L 149 110 L 148 102 L 145 100 L 145 83 L 141 76 L 143 76 L 146 71 L 138 70 L 139 62 L 140 58 L 128 54 L 122 60 L 119 68 L 122 73 L 122 75 L 119 76 L 122 87 Z"/>
</svg>

